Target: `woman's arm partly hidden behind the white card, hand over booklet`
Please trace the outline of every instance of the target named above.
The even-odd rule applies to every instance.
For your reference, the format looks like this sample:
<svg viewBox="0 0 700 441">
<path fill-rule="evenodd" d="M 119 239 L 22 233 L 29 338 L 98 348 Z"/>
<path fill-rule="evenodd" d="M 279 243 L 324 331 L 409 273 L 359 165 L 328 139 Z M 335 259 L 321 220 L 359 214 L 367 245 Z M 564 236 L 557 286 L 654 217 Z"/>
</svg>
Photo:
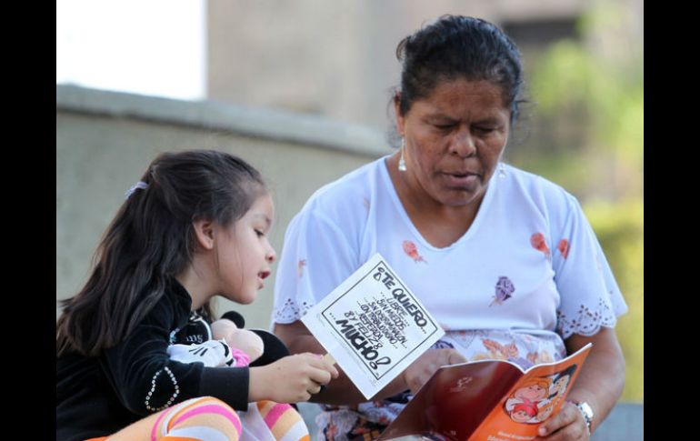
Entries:
<svg viewBox="0 0 700 441">
<path fill-rule="evenodd" d="M 318 340 L 311 335 L 306 326 L 299 320 L 288 325 L 275 323 L 274 332 L 285 343 L 292 354 L 302 352 L 325 354 L 324 347 L 318 343 Z M 396 376 L 384 389 L 377 392 L 371 400 L 395 396 L 407 389 L 411 389 L 415 393 L 435 373 L 438 367 L 465 361 L 465 357 L 460 355 L 455 349 L 429 349 L 422 356 L 418 357 L 411 366 L 408 366 L 402 375 Z M 357 390 L 343 370 L 339 366 L 337 369 L 339 376 L 331 380 L 323 392 L 312 396 L 309 401 L 338 406 L 352 406 L 368 401 Z"/>
</svg>

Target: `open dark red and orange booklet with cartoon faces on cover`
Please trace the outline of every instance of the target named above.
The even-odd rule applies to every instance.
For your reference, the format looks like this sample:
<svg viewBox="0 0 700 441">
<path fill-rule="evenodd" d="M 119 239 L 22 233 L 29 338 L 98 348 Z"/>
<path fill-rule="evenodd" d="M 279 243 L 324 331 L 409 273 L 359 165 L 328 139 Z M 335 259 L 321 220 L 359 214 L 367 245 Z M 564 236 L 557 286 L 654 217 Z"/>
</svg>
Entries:
<svg viewBox="0 0 700 441">
<path fill-rule="evenodd" d="M 525 371 L 502 360 L 442 366 L 378 440 L 535 439 L 540 423 L 564 403 L 591 346 Z"/>
</svg>

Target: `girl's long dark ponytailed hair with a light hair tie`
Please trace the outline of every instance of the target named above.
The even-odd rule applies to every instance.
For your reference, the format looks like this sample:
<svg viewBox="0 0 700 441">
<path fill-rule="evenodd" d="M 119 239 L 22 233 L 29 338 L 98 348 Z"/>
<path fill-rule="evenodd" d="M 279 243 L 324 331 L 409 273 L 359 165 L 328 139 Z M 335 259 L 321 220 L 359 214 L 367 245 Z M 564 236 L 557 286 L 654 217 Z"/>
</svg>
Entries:
<svg viewBox="0 0 700 441">
<path fill-rule="evenodd" d="M 107 227 L 87 283 L 61 302 L 56 356 L 97 356 L 124 341 L 192 261 L 193 223 L 229 226 L 267 191 L 255 168 L 214 150 L 158 155 L 141 181 L 147 187 L 129 195 Z"/>
</svg>

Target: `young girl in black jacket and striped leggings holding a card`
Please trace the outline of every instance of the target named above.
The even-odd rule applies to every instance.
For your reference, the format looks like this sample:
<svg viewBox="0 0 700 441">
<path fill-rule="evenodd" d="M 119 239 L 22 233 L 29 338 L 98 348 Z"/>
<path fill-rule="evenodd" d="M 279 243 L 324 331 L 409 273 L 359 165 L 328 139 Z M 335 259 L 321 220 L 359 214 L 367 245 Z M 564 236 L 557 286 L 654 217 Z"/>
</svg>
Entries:
<svg viewBox="0 0 700 441">
<path fill-rule="evenodd" d="M 212 317 L 213 296 L 255 300 L 275 261 L 267 241 L 273 211 L 262 177 L 235 156 L 202 150 L 155 159 L 107 228 L 87 283 L 63 302 L 57 440 L 237 440 L 234 409 L 305 401 L 337 376 L 309 353 L 255 367 L 168 356 L 168 346 L 188 343 L 178 338 L 192 316 Z M 303 426 L 291 407 L 273 406 L 261 409 L 268 426 Z"/>
</svg>

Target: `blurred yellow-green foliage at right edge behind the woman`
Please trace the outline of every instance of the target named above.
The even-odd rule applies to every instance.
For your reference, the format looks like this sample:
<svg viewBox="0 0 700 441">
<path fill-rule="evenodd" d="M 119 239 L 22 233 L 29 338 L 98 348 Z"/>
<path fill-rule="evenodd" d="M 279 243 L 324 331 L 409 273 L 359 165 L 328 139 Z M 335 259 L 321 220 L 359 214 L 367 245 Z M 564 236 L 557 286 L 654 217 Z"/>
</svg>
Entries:
<svg viewBox="0 0 700 441">
<path fill-rule="evenodd" d="M 644 56 L 629 32 L 635 11 L 598 5 L 579 24 L 581 40 L 551 45 L 530 75 L 535 118 L 570 130 L 544 130 L 541 145 L 509 157 L 581 200 L 629 306 L 616 326 L 622 399 L 644 401 Z"/>
</svg>

